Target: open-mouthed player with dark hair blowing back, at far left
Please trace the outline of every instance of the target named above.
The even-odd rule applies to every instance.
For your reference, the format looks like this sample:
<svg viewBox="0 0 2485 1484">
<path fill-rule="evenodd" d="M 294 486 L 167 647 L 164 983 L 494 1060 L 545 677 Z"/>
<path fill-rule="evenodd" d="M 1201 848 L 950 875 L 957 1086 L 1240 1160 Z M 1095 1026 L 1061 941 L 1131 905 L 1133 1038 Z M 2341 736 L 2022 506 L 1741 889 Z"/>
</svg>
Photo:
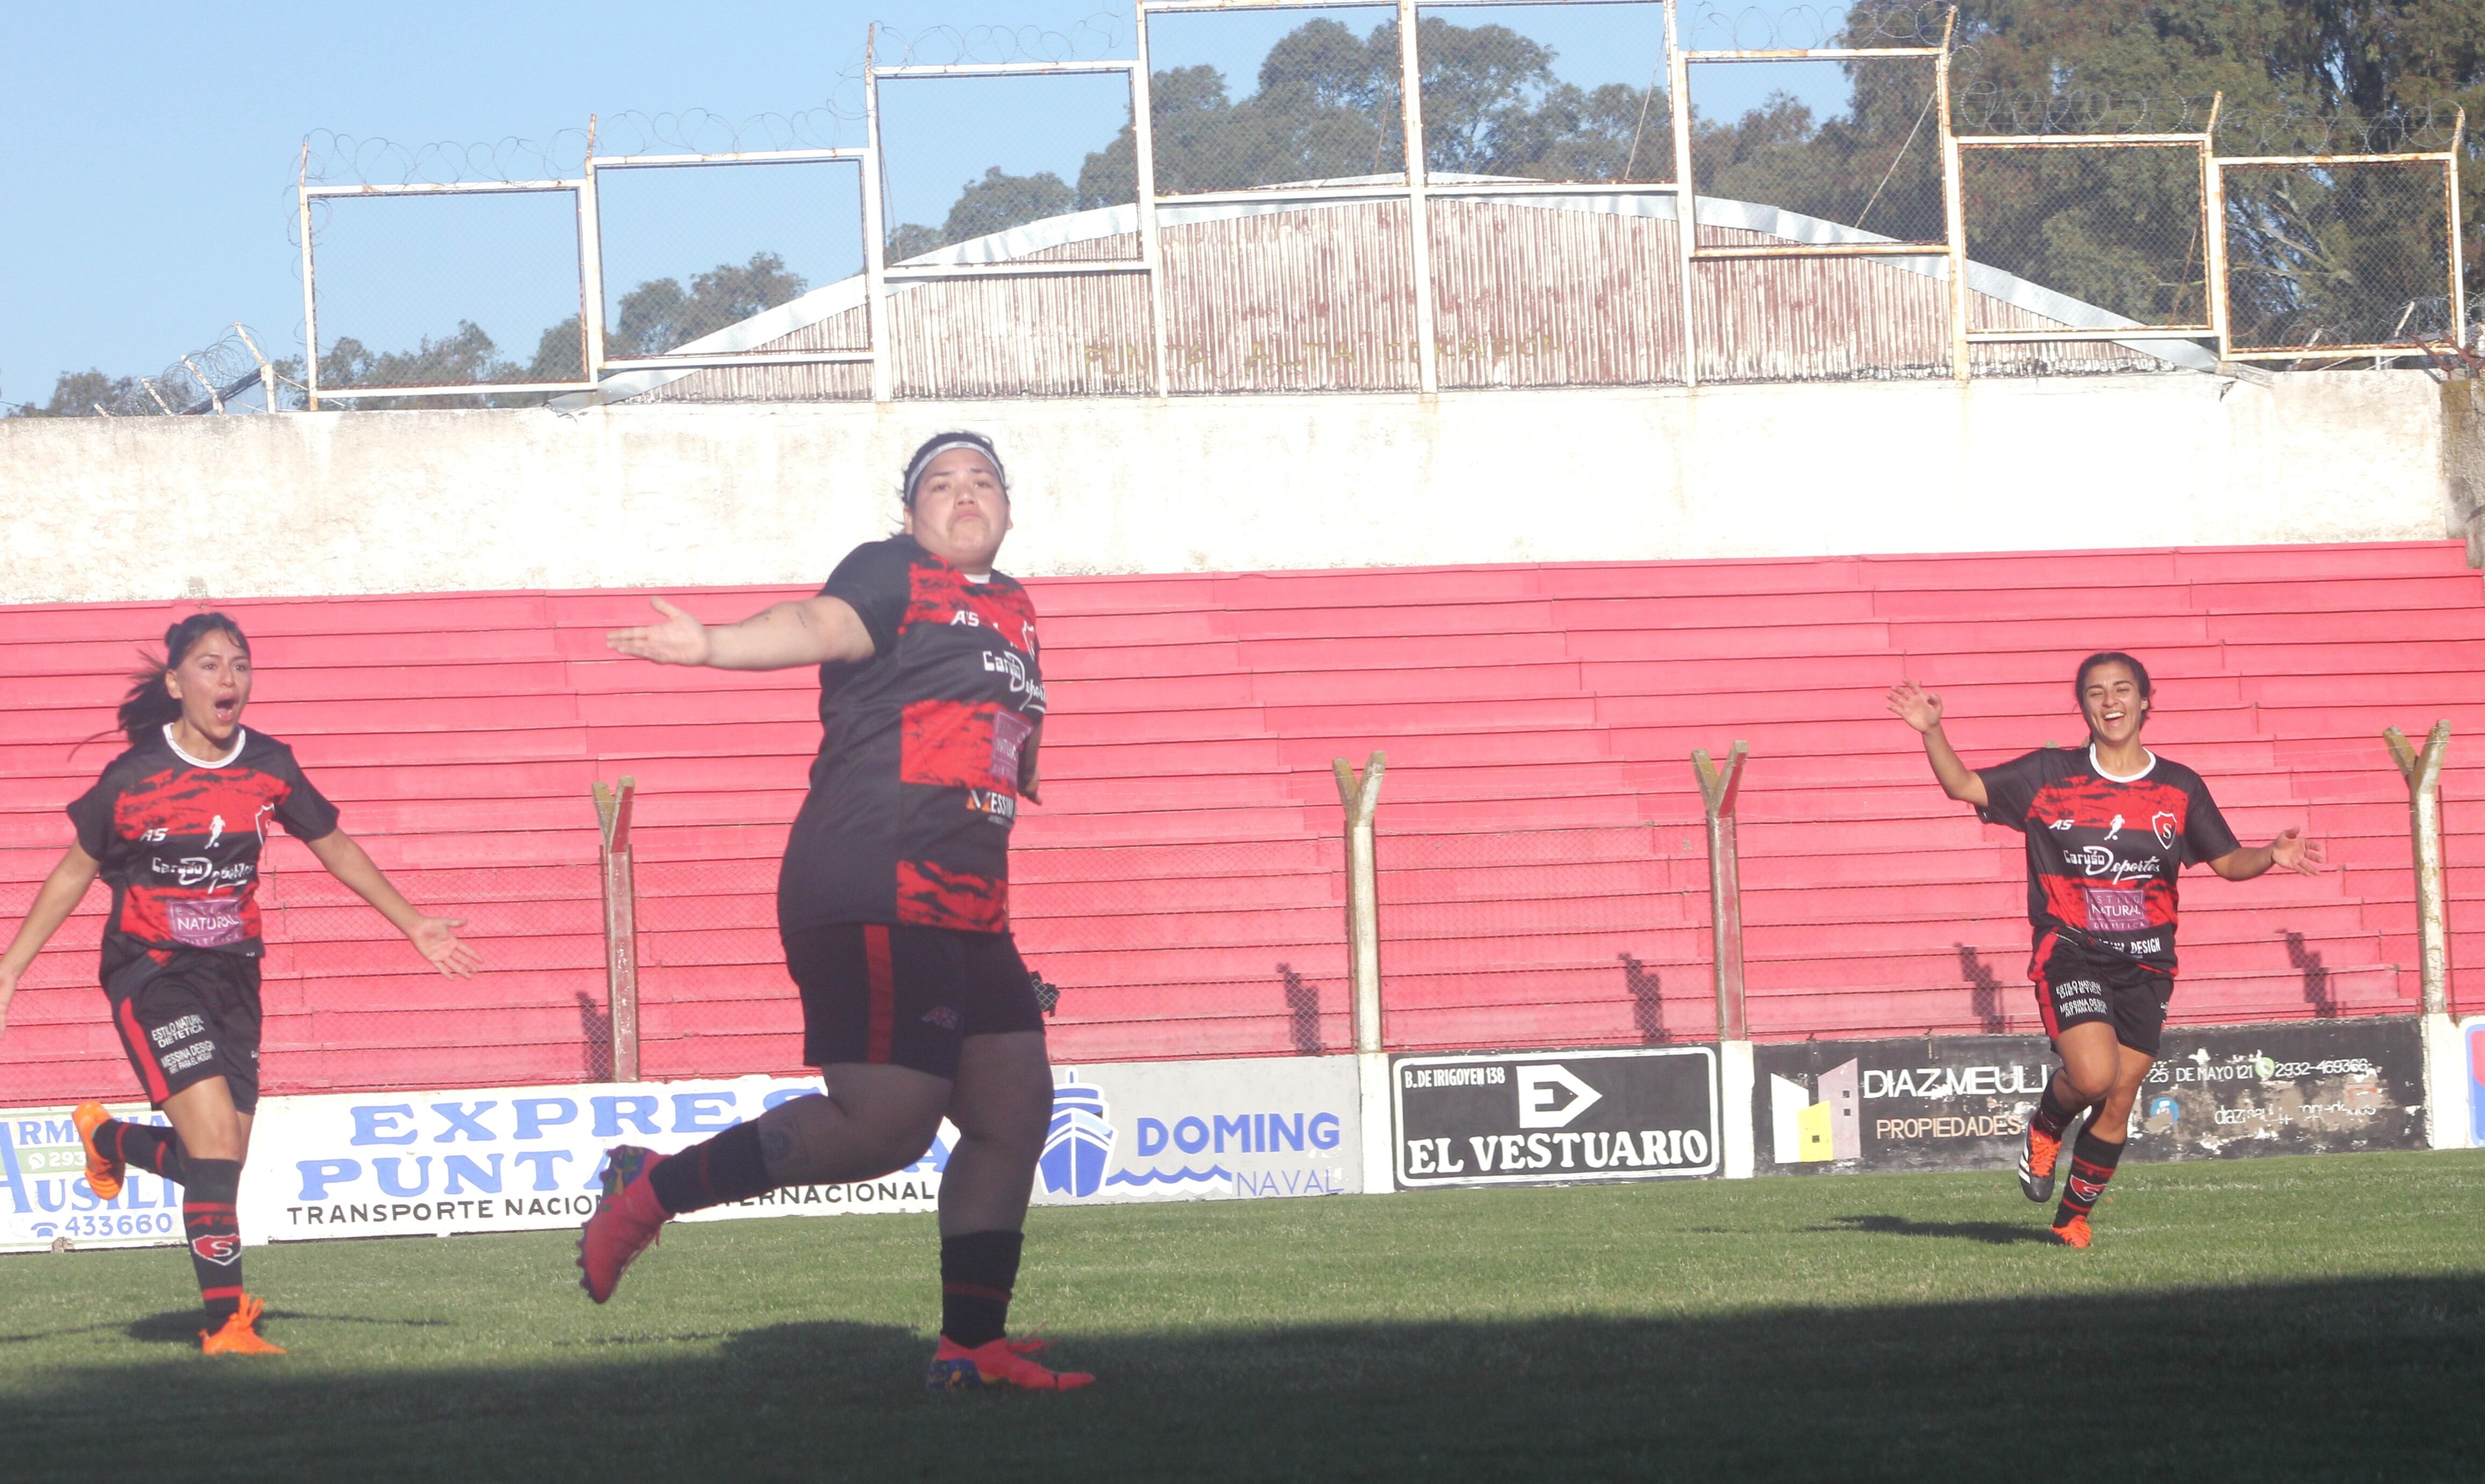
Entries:
<svg viewBox="0 0 2485 1484">
<path fill-rule="evenodd" d="M 104 999 L 171 1134 L 124 1124 L 102 1104 L 82 1104 L 72 1119 L 99 1198 L 119 1196 L 132 1163 L 181 1186 L 181 1230 L 211 1325 L 199 1332 L 206 1355 L 283 1355 L 258 1335 L 261 1303 L 241 1290 L 234 1216 L 258 1109 L 258 853 L 268 818 L 442 974 L 465 977 L 482 962 L 457 942 L 462 917 L 413 910 L 335 828 L 335 805 L 303 778 L 293 748 L 244 731 L 248 703 L 241 624 L 194 614 L 164 631 L 164 659 L 132 676 L 119 708 L 129 751 L 70 805 L 77 840 L 0 955 L 5 1029 L 25 967 L 97 875 L 112 887 Z"/>
</svg>

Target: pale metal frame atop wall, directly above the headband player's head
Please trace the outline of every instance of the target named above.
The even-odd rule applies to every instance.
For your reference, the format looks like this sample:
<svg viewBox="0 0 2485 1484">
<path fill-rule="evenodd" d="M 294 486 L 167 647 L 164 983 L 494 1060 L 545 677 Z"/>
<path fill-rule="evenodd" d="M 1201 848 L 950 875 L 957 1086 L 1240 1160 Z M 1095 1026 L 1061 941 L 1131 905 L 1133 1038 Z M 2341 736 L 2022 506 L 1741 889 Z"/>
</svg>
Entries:
<svg viewBox="0 0 2485 1484">
<path fill-rule="evenodd" d="M 1165 286 L 1156 231 L 1156 119 L 1148 97 L 1148 2 L 1138 5 L 1138 55 L 1126 60 L 1088 62 L 939 62 L 882 67 L 875 60 L 877 25 L 872 45 L 862 60 L 862 114 L 865 114 L 865 301 L 870 308 L 872 338 L 872 400 L 895 398 L 895 375 L 887 355 L 887 286 L 927 283 L 939 278 L 1093 278 L 1106 273 L 1141 273 L 1148 278 L 1148 378 L 1156 395 L 1170 393 L 1165 360 Z M 1131 87 L 1131 184 L 1138 201 L 1138 256 L 1136 259 L 1039 259 L 1016 263 L 890 263 L 887 221 L 882 209 L 885 157 L 880 142 L 880 85 L 887 80 L 977 80 L 977 77 L 1123 77 Z M 862 360 L 862 355 L 850 355 Z"/>
</svg>

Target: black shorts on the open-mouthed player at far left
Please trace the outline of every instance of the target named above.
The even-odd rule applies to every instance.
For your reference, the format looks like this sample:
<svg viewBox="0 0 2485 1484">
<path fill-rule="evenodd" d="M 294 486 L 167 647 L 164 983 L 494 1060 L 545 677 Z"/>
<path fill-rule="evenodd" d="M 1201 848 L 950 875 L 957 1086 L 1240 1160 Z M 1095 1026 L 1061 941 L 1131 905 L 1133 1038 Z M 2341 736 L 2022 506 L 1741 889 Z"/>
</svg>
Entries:
<svg viewBox="0 0 2485 1484">
<path fill-rule="evenodd" d="M 142 957 L 104 977 L 112 1029 L 147 1101 L 221 1076 L 244 1114 L 258 1109 L 258 960 L 186 950 Z"/>
</svg>

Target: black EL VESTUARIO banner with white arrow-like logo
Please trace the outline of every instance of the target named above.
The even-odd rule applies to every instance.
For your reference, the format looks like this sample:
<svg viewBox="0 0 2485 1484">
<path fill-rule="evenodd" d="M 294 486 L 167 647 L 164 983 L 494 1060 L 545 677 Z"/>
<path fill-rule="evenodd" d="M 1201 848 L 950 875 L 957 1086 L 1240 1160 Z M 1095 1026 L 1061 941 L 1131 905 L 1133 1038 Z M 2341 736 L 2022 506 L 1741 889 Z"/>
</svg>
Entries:
<svg viewBox="0 0 2485 1484">
<path fill-rule="evenodd" d="M 1717 1051 L 1397 1056 L 1399 1186 L 1715 1176 Z"/>
</svg>

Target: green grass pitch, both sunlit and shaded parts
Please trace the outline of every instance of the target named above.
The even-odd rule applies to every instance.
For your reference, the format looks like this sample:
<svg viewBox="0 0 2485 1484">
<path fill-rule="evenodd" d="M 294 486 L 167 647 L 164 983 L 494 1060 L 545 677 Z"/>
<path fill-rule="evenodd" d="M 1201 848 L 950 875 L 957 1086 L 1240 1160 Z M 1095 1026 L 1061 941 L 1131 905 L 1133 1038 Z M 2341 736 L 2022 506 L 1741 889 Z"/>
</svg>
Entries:
<svg viewBox="0 0 2485 1484">
<path fill-rule="evenodd" d="M 1071 1395 L 927 1397 L 932 1221 L 0 1260 L 0 1477 L 2478 1479 L 2485 1153 L 1036 1211 Z"/>
</svg>

